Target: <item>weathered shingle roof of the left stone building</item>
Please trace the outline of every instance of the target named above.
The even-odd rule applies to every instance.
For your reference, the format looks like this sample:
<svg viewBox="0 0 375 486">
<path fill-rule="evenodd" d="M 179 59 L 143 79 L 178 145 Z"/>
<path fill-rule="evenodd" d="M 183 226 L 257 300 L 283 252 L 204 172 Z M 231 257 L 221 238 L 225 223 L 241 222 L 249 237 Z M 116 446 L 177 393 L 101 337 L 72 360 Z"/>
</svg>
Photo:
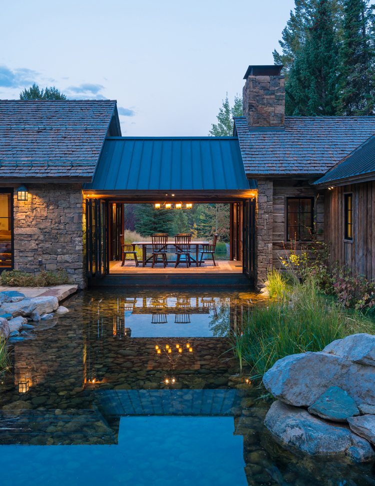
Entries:
<svg viewBox="0 0 375 486">
<path fill-rule="evenodd" d="M 0 100 L 0 178 L 91 177 L 111 121 L 115 101 Z"/>
</svg>

